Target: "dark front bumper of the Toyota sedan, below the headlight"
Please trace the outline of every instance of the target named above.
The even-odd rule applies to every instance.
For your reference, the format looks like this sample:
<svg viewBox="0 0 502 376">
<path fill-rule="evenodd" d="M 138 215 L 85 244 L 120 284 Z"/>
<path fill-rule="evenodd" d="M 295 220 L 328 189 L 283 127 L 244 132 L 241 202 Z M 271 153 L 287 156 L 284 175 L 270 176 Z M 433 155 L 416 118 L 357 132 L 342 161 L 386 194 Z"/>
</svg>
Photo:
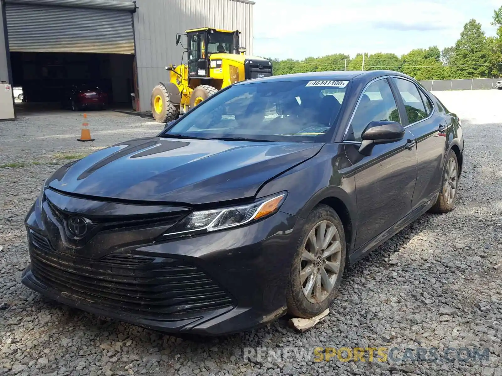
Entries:
<svg viewBox="0 0 502 376">
<path fill-rule="evenodd" d="M 299 233 L 295 230 L 302 221 L 295 216 L 278 212 L 242 228 L 173 239 L 134 250 L 129 247 L 127 252 L 118 250 L 111 253 L 113 256 L 133 255 L 155 260 L 142 268 L 118 268 L 116 265 L 103 267 L 103 257 L 88 260 L 75 256 L 72 260 L 69 254 L 58 256 L 50 249 L 41 250 L 38 243 L 30 238 L 33 232 L 40 236 L 47 231 L 44 226 L 37 226 L 37 217 L 40 220 L 34 209 L 27 217 L 32 262 L 23 273 L 22 281 L 31 289 L 61 303 L 150 329 L 201 335 L 222 335 L 251 329 L 286 313 L 285 292 L 295 252 L 294 234 Z M 108 256 L 110 254 L 105 255 L 105 258 Z M 99 267 L 93 269 L 92 262 L 100 262 Z M 174 276 L 177 292 L 156 292 L 168 294 L 170 301 L 178 299 L 175 308 L 172 305 L 171 311 L 168 309 L 167 313 L 159 313 L 155 307 L 152 308 L 152 291 L 142 290 L 144 300 L 138 300 L 138 296 L 128 298 L 127 294 L 121 292 L 120 286 L 130 280 L 108 278 L 113 273 L 124 275 L 130 271 L 130 277 L 136 283 L 129 283 L 128 289 L 151 283 L 152 290 L 159 290 L 155 276 L 159 275 L 160 270 L 166 270 L 165 266 L 159 269 L 159 263 L 163 262 L 174 263 L 172 267 L 166 264 L 170 270 L 191 268 L 186 273 L 192 273 L 182 276 L 184 279 Z M 82 279 L 75 273 L 81 273 L 79 268 L 84 267 L 93 273 L 85 273 Z M 55 270 L 58 273 L 55 274 Z M 109 274 L 106 274 L 107 270 Z M 146 280 L 149 274 L 152 278 Z M 173 275 L 163 274 L 162 278 L 173 278 Z M 221 298 L 218 304 L 197 297 L 203 300 L 200 302 L 201 309 L 193 309 L 193 299 L 190 300 L 190 306 L 188 303 L 183 305 L 183 299 L 187 299 L 188 295 L 184 293 L 180 296 L 179 291 L 184 290 L 185 284 L 194 282 L 194 278 L 199 278 L 195 282 L 204 283 L 204 288 L 217 291 L 218 298 Z M 197 290 L 193 290 L 191 298 L 195 295 Z M 184 309 L 187 307 L 190 309 Z"/>
</svg>

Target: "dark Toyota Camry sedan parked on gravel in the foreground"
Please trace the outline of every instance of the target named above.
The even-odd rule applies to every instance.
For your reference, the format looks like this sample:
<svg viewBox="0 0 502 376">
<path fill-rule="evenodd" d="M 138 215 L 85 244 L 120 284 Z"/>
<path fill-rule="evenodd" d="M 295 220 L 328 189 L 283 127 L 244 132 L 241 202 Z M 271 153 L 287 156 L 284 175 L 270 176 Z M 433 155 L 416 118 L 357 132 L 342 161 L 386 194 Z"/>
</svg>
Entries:
<svg viewBox="0 0 502 376">
<path fill-rule="evenodd" d="M 347 265 L 453 209 L 463 150 L 459 118 L 401 73 L 240 82 L 50 176 L 23 283 L 166 332 L 313 317 Z"/>
</svg>

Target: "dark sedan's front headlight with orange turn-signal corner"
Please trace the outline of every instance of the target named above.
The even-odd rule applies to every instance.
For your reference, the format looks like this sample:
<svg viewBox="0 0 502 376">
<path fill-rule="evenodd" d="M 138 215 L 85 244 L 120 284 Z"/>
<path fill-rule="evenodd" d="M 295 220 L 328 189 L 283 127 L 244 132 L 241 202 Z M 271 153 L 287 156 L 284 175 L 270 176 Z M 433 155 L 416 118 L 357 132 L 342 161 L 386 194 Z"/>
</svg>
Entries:
<svg viewBox="0 0 502 376">
<path fill-rule="evenodd" d="M 167 235 L 204 233 L 241 226 L 279 211 L 286 193 L 269 196 L 252 204 L 193 212 L 169 229 Z"/>
</svg>

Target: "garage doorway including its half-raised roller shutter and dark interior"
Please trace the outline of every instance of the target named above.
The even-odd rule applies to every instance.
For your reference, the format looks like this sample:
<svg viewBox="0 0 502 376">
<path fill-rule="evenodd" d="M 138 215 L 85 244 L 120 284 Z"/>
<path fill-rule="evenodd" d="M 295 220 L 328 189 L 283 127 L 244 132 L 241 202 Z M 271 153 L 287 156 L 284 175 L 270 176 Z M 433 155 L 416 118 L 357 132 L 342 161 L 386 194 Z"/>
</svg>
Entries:
<svg viewBox="0 0 502 376">
<path fill-rule="evenodd" d="M 18 109 L 134 107 L 134 2 L 4 1 Z"/>
</svg>

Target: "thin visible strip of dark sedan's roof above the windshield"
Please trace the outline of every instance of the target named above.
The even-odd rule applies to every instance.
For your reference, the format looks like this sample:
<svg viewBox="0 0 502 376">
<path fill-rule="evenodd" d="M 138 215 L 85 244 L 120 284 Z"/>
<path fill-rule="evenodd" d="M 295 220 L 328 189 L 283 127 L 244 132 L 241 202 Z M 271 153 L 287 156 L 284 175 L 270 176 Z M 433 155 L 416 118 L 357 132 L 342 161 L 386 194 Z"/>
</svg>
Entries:
<svg viewBox="0 0 502 376">
<path fill-rule="evenodd" d="M 350 81 L 350 80 L 361 80 L 370 81 L 374 78 L 388 75 L 396 75 L 402 77 L 411 78 L 403 73 L 395 71 L 330 71 L 330 72 L 309 72 L 309 73 L 295 73 L 295 74 L 285 74 L 280 76 L 271 76 L 265 78 L 258 78 L 253 80 L 241 81 L 236 85 L 245 85 L 247 83 L 254 82 L 281 82 L 281 81 L 304 81 L 304 80 L 339 80 L 339 81 Z"/>
</svg>

